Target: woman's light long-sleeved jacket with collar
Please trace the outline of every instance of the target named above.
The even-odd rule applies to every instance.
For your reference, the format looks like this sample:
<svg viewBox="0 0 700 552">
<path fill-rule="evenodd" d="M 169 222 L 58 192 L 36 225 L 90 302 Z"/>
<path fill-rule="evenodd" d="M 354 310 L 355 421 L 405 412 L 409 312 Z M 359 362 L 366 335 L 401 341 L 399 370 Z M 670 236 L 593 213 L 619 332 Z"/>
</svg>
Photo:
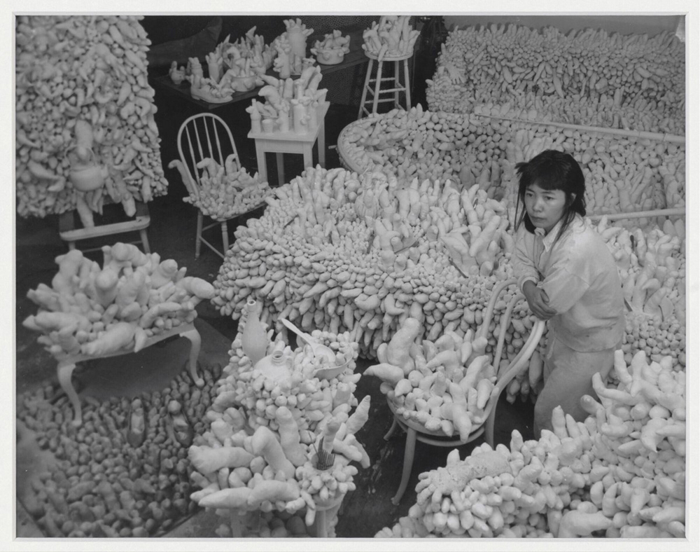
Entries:
<svg viewBox="0 0 700 552">
<path fill-rule="evenodd" d="M 598 233 L 580 216 L 563 235 L 561 221 L 543 235 L 524 226 L 515 238 L 513 266 L 520 289 L 537 282 L 556 315 L 550 335 L 573 350 L 601 351 L 614 347 L 624 333 L 624 299 L 615 259 Z M 540 230 L 539 228 L 537 230 Z"/>
</svg>

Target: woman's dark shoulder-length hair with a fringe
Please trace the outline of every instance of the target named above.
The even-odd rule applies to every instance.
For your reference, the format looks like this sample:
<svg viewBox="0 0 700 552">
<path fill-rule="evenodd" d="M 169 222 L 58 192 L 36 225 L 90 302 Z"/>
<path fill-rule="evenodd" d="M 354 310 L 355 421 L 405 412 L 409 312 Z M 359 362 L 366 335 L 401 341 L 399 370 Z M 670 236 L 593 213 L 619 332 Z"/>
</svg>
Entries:
<svg viewBox="0 0 700 552">
<path fill-rule="evenodd" d="M 577 214 L 586 216 L 586 181 L 580 165 L 568 153 L 547 149 L 531 160 L 515 165 L 515 172 L 519 178 L 515 230 L 524 223 L 528 232 L 535 231 L 535 226 L 525 209 L 525 192 L 528 186 L 533 184 L 544 190 L 561 190 L 566 195 L 563 223 L 556 236 L 557 240 Z"/>
</svg>

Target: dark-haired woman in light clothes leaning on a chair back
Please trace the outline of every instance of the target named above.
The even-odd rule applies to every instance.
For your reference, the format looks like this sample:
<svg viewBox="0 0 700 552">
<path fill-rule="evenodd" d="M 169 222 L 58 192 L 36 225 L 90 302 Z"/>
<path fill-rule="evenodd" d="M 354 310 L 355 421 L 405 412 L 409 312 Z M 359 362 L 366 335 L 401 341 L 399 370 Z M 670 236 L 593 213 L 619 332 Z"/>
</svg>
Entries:
<svg viewBox="0 0 700 552">
<path fill-rule="evenodd" d="M 514 269 L 530 310 L 547 320 L 543 376 L 535 403 L 535 438 L 552 429 L 552 410 L 583 421 L 594 373 L 607 378 L 622 343 L 624 299 L 615 260 L 588 226 L 581 167 L 547 150 L 517 165 Z"/>
</svg>

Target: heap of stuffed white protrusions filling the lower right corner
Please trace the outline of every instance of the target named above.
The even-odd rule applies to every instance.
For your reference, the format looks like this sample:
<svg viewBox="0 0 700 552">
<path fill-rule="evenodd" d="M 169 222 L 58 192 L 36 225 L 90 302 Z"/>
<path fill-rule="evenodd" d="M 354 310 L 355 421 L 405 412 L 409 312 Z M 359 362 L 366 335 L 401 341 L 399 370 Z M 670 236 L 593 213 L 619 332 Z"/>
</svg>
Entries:
<svg viewBox="0 0 700 552">
<path fill-rule="evenodd" d="M 458 477 L 458 455 L 421 474 L 409 515 L 377 537 L 685 537 L 685 372 L 672 357 L 629 363 L 617 384 L 593 378 L 598 400 L 574 420 L 561 406 L 537 441 L 512 432 L 493 451 L 508 469 Z M 483 457 L 478 446 L 467 459 Z M 471 460 L 470 460 L 471 459 Z M 490 464 L 495 465 L 492 461 Z M 463 470 L 463 467 L 459 468 Z"/>
</svg>

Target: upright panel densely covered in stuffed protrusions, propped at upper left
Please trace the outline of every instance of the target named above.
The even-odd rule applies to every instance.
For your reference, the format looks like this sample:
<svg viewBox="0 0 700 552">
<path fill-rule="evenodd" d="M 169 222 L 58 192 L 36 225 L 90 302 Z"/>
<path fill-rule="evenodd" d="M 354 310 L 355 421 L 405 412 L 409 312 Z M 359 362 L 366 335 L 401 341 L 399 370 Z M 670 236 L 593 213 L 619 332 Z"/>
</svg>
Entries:
<svg viewBox="0 0 700 552">
<path fill-rule="evenodd" d="M 134 200 L 147 202 L 167 188 L 154 90 L 146 83 L 147 40 L 126 38 L 129 31 L 144 33 L 138 18 L 25 19 L 25 27 L 38 32 L 28 41 L 17 34 L 18 55 L 26 61 L 18 67 L 18 214 L 76 210 L 89 228 L 109 195 L 132 216 Z M 129 30 L 113 31 L 118 26 Z M 86 36 L 87 27 L 98 29 L 97 37 Z"/>
</svg>

